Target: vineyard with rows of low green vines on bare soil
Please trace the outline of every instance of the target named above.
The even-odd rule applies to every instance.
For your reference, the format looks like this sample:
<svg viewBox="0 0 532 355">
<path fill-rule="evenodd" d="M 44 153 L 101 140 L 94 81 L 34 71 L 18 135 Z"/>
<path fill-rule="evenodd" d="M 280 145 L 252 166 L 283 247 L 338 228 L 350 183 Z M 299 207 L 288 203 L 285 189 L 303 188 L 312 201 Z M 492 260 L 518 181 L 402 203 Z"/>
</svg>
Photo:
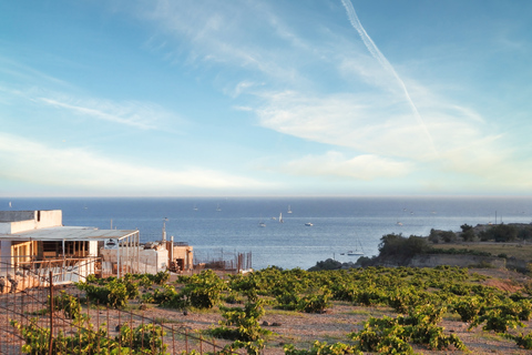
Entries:
<svg viewBox="0 0 532 355">
<path fill-rule="evenodd" d="M 28 354 L 530 352 L 531 284 L 492 281 L 458 267 L 89 277 L 9 327 Z M 70 327 L 50 331 L 50 310 Z"/>
</svg>

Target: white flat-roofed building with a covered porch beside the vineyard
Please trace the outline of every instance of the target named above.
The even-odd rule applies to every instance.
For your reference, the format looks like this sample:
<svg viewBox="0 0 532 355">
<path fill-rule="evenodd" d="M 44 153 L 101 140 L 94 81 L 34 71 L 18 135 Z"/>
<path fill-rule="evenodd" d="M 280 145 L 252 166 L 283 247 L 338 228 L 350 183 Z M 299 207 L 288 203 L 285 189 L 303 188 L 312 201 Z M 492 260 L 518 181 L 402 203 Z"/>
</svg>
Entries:
<svg viewBox="0 0 532 355">
<path fill-rule="evenodd" d="M 111 270 L 96 260 L 99 243 L 117 248 L 116 265 L 108 265 Z M 129 246 L 127 252 L 121 253 L 119 246 Z M 57 282 L 71 282 L 89 274 L 112 273 L 113 266 L 120 276 L 123 262 L 131 271 L 139 270 L 139 231 L 63 226 L 60 210 L 0 211 L 0 276 L 52 272 Z"/>
</svg>

